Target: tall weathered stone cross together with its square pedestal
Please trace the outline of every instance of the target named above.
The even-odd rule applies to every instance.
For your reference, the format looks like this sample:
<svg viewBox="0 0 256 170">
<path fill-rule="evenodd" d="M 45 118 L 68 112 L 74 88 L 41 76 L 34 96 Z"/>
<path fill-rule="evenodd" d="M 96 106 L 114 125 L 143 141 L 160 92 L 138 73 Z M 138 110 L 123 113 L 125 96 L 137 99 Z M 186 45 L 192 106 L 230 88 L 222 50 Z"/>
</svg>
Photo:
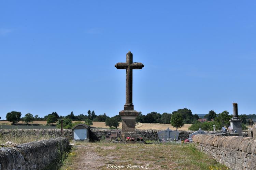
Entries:
<svg viewBox="0 0 256 170">
<path fill-rule="evenodd" d="M 135 132 L 136 117 L 138 112 L 134 111 L 132 104 L 132 70 L 142 69 L 144 65 L 142 63 L 133 63 L 132 53 L 129 51 L 126 54 L 126 63 L 116 63 L 115 67 L 117 69 L 126 69 L 126 103 L 124 105 L 124 110 L 119 112 L 122 118 L 122 132 L 120 137 L 123 140 L 126 137 L 137 138 L 138 134 Z"/>
</svg>

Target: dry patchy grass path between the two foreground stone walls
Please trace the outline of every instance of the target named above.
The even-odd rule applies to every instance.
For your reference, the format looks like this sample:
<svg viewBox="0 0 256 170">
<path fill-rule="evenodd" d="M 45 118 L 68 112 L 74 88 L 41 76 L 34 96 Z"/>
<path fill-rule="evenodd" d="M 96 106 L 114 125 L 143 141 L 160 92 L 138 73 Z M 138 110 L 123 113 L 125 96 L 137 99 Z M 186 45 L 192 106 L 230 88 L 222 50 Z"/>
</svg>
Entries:
<svg viewBox="0 0 256 170">
<path fill-rule="evenodd" d="M 193 144 L 79 143 L 74 145 L 62 170 L 107 169 L 108 165 L 145 166 L 149 169 L 228 169 L 199 152 Z"/>
</svg>

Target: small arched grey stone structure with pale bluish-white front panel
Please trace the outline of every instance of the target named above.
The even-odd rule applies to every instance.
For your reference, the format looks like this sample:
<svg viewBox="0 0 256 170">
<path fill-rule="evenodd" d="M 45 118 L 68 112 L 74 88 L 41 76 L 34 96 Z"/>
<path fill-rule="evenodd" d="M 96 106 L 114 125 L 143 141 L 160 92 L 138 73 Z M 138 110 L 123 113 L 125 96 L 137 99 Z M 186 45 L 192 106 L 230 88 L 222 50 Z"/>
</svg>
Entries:
<svg viewBox="0 0 256 170">
<path fill-rule="evenodd" d="M 78 124 L 72 129 L 73 140 L 87 140 L 89 141 L 89 126 L 86 124 Z"/>
</svg>

